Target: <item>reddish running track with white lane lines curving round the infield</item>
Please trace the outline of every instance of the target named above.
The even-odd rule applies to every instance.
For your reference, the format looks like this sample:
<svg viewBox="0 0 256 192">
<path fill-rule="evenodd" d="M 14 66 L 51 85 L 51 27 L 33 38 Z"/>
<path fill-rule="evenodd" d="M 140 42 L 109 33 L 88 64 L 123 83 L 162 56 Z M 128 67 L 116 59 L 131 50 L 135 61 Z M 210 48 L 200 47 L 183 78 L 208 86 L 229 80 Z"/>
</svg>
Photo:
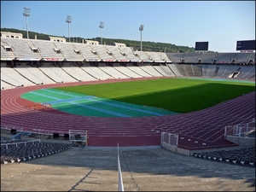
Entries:
<svg viewBox="0 0 256 192">
<path fill-rule="evenodd" d="M 63 113 L 55 109 L 26 108 L 21 94 L 52 87 L 102 84 L 131 79 L 91 81 L 66 84 L 42 84 L 1 90 L 1 126 L 37 129 L 61 133 L 84 130 L 89 133 L 88 146 L 154 146 L 160 145 L 160 132 L 179 134 L 178 147 L 187 149 L 234 146 L 224 139 L 224 126 L 250 122 L 255 118 L 255 91 L 193 113 L 142 118 L 99 118 Z M 62 135 L 62 134 L 61 134 Z"/>
</svg>

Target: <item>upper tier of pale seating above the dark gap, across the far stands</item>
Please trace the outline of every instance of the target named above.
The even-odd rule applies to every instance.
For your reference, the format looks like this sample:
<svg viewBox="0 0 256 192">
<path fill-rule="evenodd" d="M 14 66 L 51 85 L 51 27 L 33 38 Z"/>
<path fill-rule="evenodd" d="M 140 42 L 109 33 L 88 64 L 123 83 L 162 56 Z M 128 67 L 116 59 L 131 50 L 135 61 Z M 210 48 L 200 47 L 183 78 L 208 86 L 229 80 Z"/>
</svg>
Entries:
<svg viewBox="0 0 256 192">
<path fill-rule="evenodd" d="M 122 61 L 155 63 L 255 63 L 255 53 L 163 53 L 131 47 L 1 37 L 2 61 Z"/>
</svg>

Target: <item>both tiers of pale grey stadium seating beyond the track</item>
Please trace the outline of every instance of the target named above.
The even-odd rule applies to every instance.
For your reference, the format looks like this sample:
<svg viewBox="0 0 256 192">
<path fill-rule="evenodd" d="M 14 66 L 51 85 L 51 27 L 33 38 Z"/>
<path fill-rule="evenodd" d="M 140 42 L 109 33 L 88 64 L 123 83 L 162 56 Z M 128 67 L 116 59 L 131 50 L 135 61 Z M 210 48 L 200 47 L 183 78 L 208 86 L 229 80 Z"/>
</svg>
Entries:
<svg viewBox="0 0 256 192">
<path fill-rule="evenodd" d="M 130 47 L 13 38 L 1 38 L 1 45 L 1 68 L 3 68 L 1 79 L 4 82 L 2 89 L 22 84 L 26 86 L 95 79 L 162 76 L 255 79 L 253 67 L 250 66 L 255 63 L 255 53 L 158 53 L 137 51 Z M 4 60 L 17 60 L 20 64 L 11 66 L 6 62 L 4 64 Z M 55 61 L 62 61 L 62 63 L 58 64 Z M 24 66 L 24 62 L 26 66 L 21 67 Z M 75 62 L 78 63 L 73 65 Z M 151 63 L 154 64 L 151 65 Z M 126 75 L 121 73 L 121 70 L 117 70 L 119 66 L 123 66 L 119 69 L 128 68 L 128 71 L 124 70 L 129 74 Z M 17 72 L 15 76 L 21 81 L 16 82 L 16 79 L 4 73 L 7 71 L 5 68 L 9 67 L 14 67 Z M 105 71 L 102 71 L 103 69 Z M 76 75 L 78 75 L 77 78 Z"/>
</svg>

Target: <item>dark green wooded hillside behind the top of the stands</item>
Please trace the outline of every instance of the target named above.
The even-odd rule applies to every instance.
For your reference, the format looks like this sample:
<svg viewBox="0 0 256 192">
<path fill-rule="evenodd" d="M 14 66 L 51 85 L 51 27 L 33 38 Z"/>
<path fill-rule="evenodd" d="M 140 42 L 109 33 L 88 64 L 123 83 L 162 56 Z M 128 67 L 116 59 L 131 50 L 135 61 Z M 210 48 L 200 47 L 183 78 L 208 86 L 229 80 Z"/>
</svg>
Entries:
<svg viewBox="0 0 256 192">
<path fill-rule="evenodd" d="M 26 31 L 25 30 L 18 30 L 13 28 L 1 28 L 1 32 L 16 32 L 21 33 L 23 35 L 23 38 L 26 37 Z M 37 36 L 37 39 L 40 40 L 49 40 L 49 36 L 51 37 L 58 37 L 58 38 L 66 38 L 68 42 L 68 38 L 63 36 L 55 36 L 55 35 L 48 35 L 44 33 L 39 32 L 28 32 L 29 38 L 35 38 Z M 101 38 L 80 38 L 80 37 L 70 37 L 70 41 L 73 43 L 82 43 L 83 40 L 94 40 L 101 42 Z M 135 40 L 128 40 L 128 39 L 114 39 L 114 38 L 102 38 L 102 43 L 105 45 L 114 45 L 114 43 L 121 43 L 126 44 L 127 47 L 132 47 L 133 49 L 140 50 L 141 49 L 141 42 L 135 41 Z M 166 52 L 166 53 L 193 53 L 195 52 L 195 48 L 188 47 L 188 46 L 180 46 L 175 44 L 165 44 L 165 43 L 155 43 L 155 42 L 148 42 L 143 41 L 143 51 L 155 51 L 155 52 Z"/>
</svg>

